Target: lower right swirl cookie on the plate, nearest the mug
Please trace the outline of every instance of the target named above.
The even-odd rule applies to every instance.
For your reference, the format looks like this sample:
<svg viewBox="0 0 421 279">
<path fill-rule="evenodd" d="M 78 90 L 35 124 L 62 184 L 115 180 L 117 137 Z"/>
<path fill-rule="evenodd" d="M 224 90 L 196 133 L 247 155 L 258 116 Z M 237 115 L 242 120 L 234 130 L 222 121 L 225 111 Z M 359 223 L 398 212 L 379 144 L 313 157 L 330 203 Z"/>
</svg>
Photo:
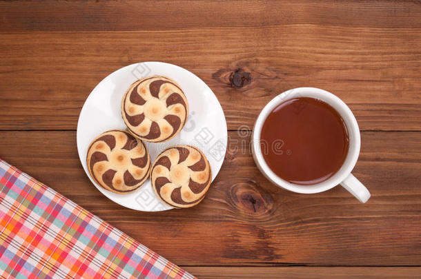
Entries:
<svg viewBox="0 0 421 279">
<path fill-rule="evenodd" d="M 190 145 L 164 150 L 150 171 L 150 182 L 157 197 L 176 208 L 200 203 L 211 181 L 208 159 L 202 151 Z"/>
</svg>

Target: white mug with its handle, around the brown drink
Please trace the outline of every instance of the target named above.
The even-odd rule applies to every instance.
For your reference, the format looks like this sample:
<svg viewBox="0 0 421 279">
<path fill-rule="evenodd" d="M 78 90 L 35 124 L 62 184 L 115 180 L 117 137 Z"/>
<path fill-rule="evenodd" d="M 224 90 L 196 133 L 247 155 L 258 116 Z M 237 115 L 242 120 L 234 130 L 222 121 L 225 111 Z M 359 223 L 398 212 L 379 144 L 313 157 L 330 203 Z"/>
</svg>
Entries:
<svg viewBox="0 0 421 279">
<path fill-rule="evenodd" d="M 349 149 L 348 154 L 346 155 L 345 161 L 340 167 L 340 169 L 333 174 L 330 178 L 322 181 L 321 183 L 313 185 L 297 185 L 294 183 L 289 183 L 288 181 L 277 176 L 272 169 L 270 169 L 264 161 L 261 144 L 260 144 L 260 134 L 262 133 L 262 126 L 266 117 L 270 112 L 289 99 L 300 98 L 300 97 L 310 97 L 314 99 L 320 99 L 325 103 L 331 105 L 339 112 L 340 116 L 344 120 L 346 129 L 348 130 L 349 135 Z M 280 127 L 282 129 L 282 127 Z M 252 149 L 253 149 L 253 158 L 257 167 L 268 180 L 270 180 L 275 185 L 287 189 L 292 192 L 302 193 L 302 194 L 315 194 L 329 190 L 336 185 L 342 185 L 346 190 L 348 190 L 355 198 L 358 198 L 362 203 L 365 203 L 370 198 L 369 190 L 360 183 L 360 181 L 351 174 L 352 169 L 357 163 L 358 155 L 360 154 L 360 129 L 358 127 L 357 120 L 355 116 L 349 109 L 349 107 L 337 96 L 327 92 L 326 90 L 321 90 L 313 87 L 299 87 L 295 89 L 288 90 L 274 99 L 272 99 L 260 112 L 259 117 L 257 117 L 255 127 L 253 129 L 252 136 Z"/>
</svg>

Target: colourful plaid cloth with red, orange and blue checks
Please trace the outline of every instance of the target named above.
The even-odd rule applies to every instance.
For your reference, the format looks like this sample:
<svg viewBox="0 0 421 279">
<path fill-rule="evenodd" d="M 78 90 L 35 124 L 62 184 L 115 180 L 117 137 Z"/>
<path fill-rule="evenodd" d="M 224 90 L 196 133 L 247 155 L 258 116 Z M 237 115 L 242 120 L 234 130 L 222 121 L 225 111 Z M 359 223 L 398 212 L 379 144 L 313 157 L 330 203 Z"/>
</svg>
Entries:
<svg viewBox="0 0 421 279">
<path fill-rule="evenodd" d="M 0 159 L 1 278 L 193 278 Z"/>
</svg>

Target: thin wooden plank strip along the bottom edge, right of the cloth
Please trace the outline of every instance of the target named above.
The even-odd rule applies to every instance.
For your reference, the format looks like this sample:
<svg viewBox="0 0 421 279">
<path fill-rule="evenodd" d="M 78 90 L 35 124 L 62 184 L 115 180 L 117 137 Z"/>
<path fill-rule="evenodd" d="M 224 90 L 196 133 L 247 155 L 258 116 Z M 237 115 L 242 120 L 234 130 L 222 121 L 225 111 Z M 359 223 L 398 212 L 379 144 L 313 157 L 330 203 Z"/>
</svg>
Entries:
<svg viewBox="0 0 421 279">
<path fill-rule="evenodd" d="M 420 267 L 184 267 L 198 278 L 420 278 Z"/>
</svg>

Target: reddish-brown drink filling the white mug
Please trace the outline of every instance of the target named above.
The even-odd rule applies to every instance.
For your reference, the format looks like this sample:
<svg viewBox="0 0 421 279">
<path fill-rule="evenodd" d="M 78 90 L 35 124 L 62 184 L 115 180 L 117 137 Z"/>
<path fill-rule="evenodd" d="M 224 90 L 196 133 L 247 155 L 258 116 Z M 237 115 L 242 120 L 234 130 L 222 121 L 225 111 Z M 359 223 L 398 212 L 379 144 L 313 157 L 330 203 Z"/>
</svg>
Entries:
<svg viewBox="0 0 421 279">
<path fill-rule="evenodd" d="M 299 185 L 335 174 L 348 154 L 349 136 L 336 110 L 313 98 L 281 103 L 262 127 L 264 160 L 277 176 Z"/>
</svg>

